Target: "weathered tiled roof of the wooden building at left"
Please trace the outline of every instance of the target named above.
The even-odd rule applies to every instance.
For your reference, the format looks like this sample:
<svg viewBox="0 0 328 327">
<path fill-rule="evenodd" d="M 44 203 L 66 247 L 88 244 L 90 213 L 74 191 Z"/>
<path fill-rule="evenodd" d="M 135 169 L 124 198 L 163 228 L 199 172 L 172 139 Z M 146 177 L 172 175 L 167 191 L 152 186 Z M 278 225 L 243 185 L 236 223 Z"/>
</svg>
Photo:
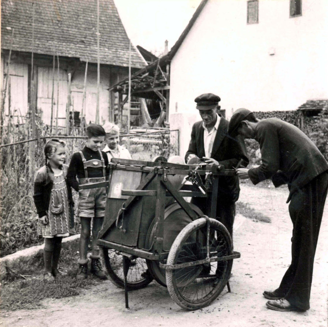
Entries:
<svg viewBox="0 0 328 327">
<path fill-rule="evenodd" d="M 97 62 L 97 0 L 3 0 L 1 3 L 1 48 L 77 57 Z M 129 38 L 113 0 L 99 0 L 100 63 L 129 66 Z M 131 66 L 145 67 L 131 47 Z"/>
</svg>

